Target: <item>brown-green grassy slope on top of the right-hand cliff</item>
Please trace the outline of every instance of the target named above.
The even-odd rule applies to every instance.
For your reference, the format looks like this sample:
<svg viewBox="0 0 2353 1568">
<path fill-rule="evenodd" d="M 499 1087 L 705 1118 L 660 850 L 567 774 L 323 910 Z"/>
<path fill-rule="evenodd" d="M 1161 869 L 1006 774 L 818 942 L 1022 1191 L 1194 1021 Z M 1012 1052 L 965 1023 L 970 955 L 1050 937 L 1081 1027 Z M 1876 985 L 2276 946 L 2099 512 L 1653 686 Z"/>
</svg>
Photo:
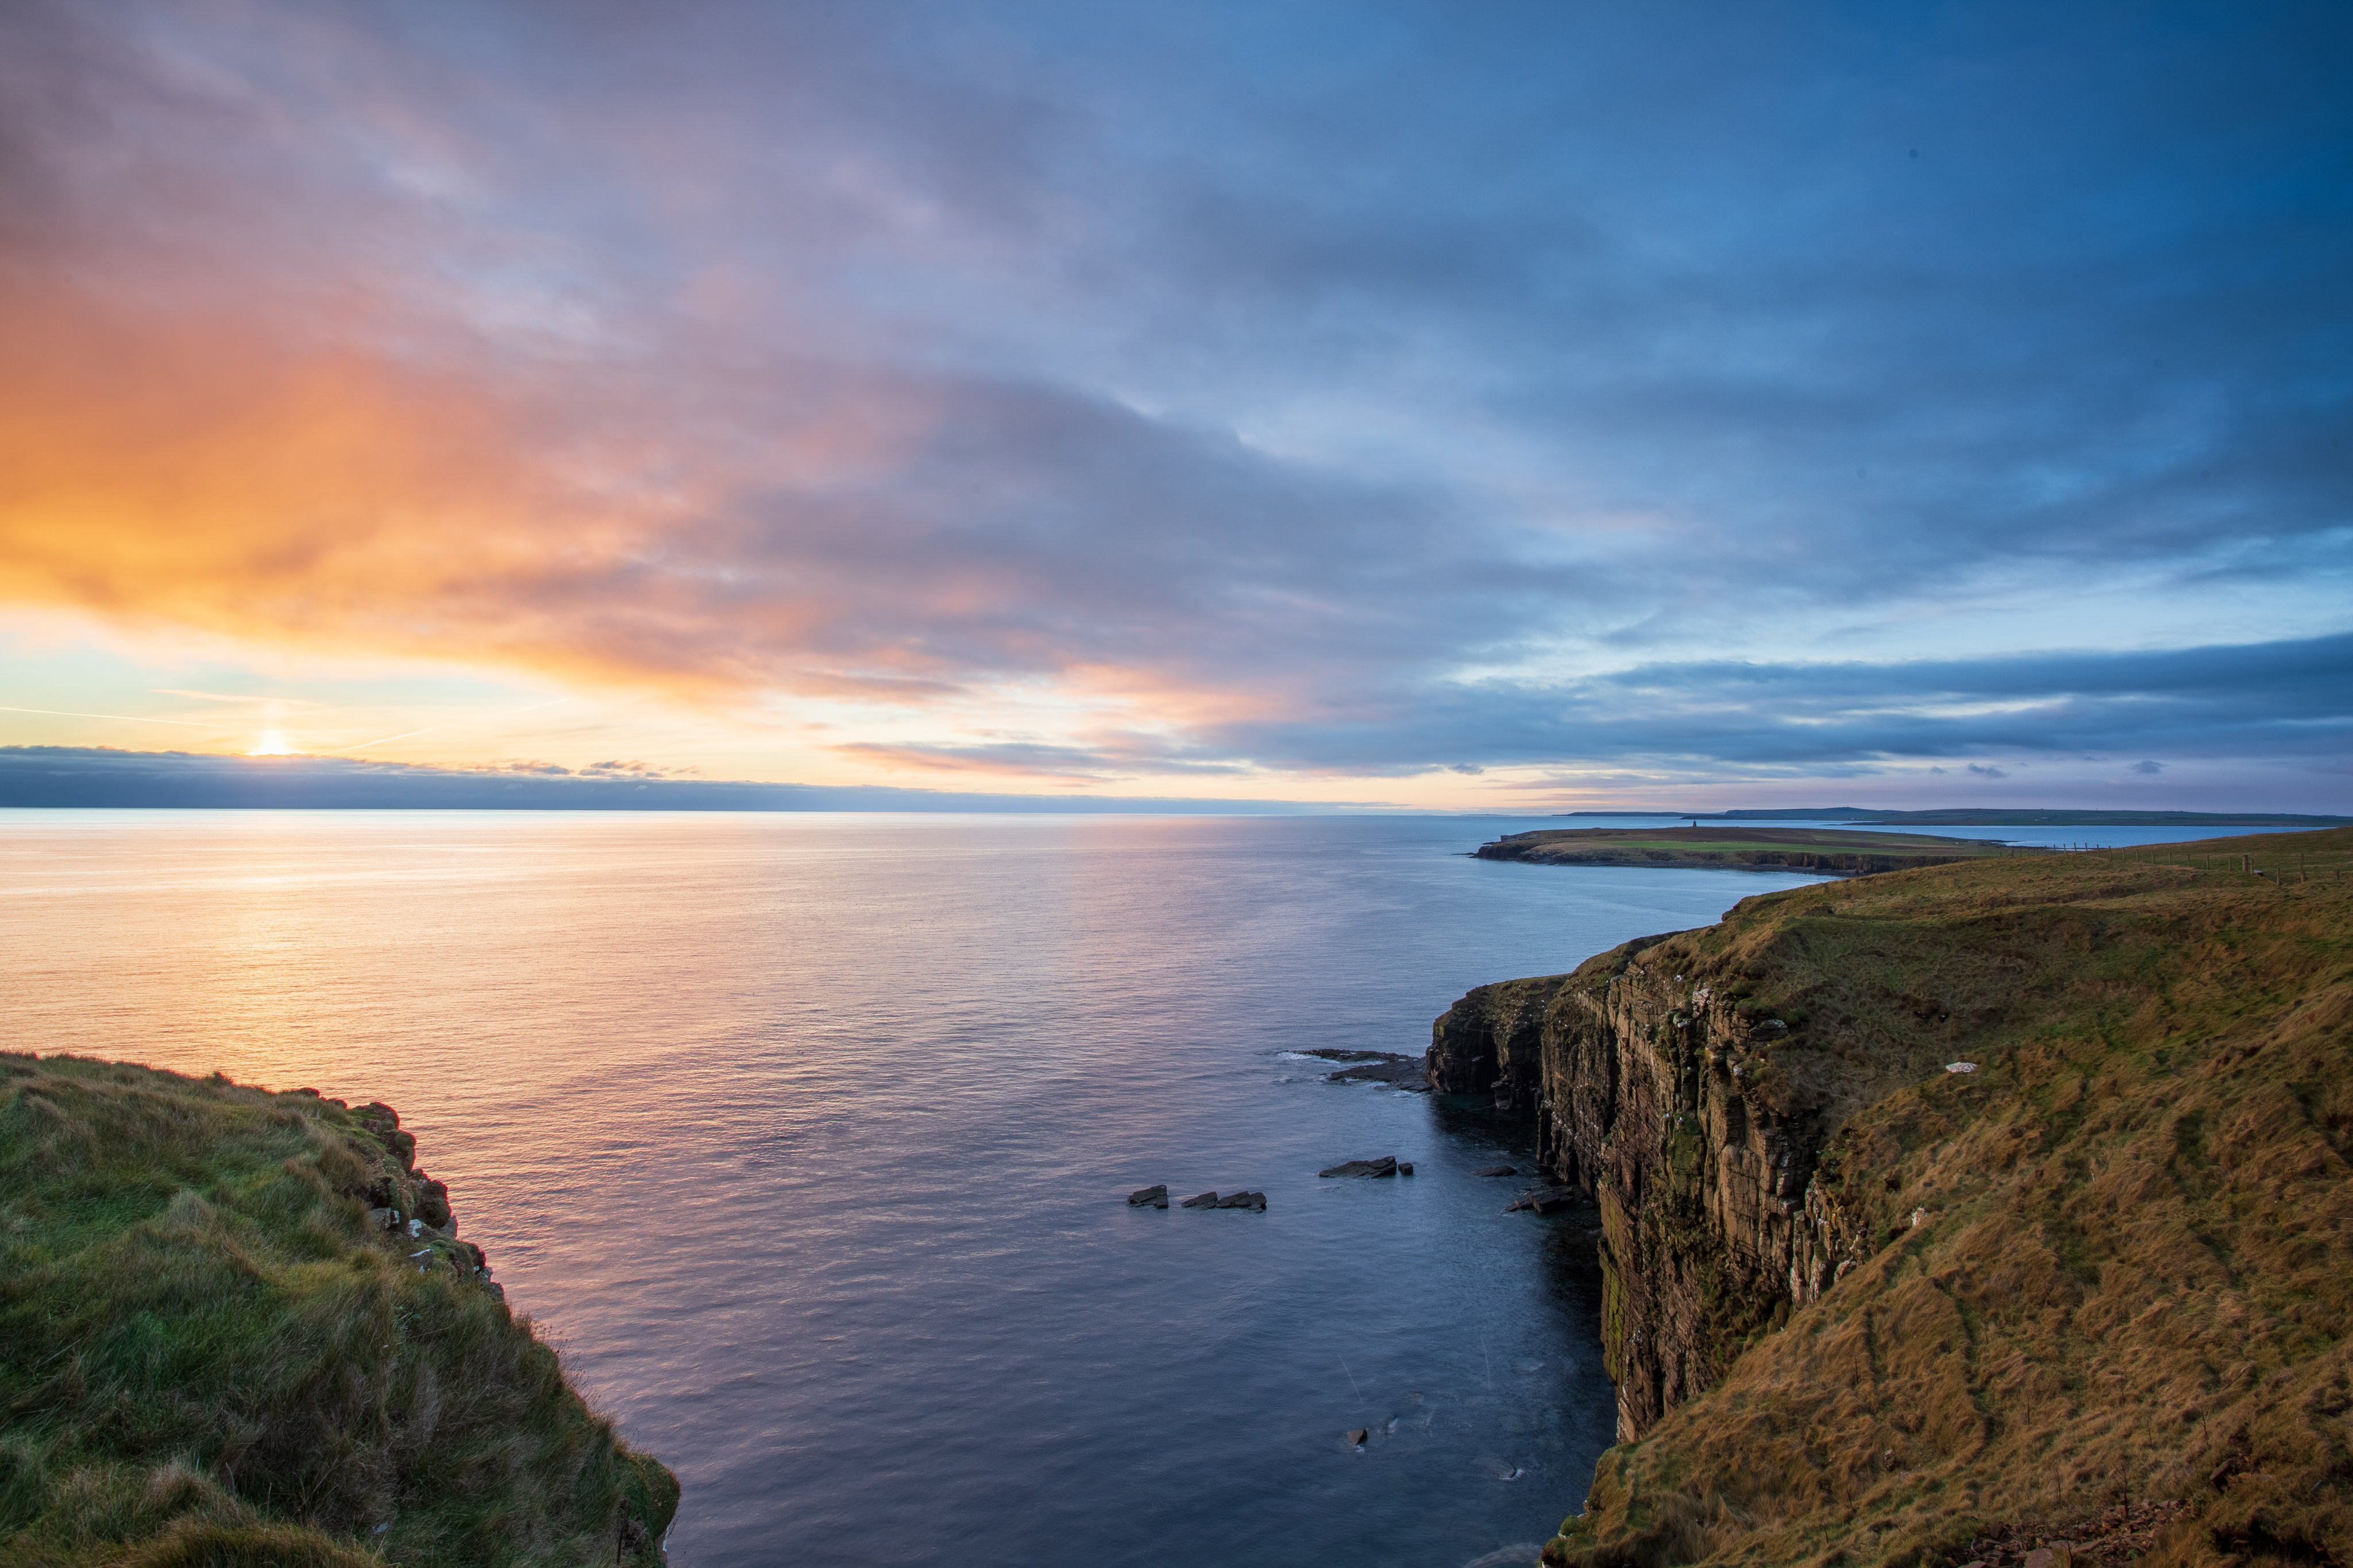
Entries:
<svg viewBox="0 0 2353 1568">
<path fill-rule="evenodd" d="M 1868 1246 L 1548 1561 L 1965 1563 L 2146 1507 L 2144 1563 L 2353 1563 L 2353 830 L 1767 893 L 1577 983 L 1628 966 L 1784 1023 L 1760 1095 L 1835 1128 Z"/>
</svg>

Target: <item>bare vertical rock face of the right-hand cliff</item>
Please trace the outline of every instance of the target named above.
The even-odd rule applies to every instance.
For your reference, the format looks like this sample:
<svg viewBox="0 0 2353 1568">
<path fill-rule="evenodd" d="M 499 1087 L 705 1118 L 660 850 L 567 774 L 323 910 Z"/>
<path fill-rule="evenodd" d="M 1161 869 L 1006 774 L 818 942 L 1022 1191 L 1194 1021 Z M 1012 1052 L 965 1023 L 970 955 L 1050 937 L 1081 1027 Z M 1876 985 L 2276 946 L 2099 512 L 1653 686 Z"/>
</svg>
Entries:
<svg viewBox="0 0 2353 1568">
<path fill-rule="evenodd" d="M 1666 940 L 1482 985 L 1431 1030 L 1431 1084 L 1532 1117 L 1539 1161 L 1600 1208 L 1619 1441 L 1713 1385 L 1854 1251 L 1812 1182 L 1835 1107 L 1793 1072 L 1791 1023 L 1649 961 Z"/>
</svg>

